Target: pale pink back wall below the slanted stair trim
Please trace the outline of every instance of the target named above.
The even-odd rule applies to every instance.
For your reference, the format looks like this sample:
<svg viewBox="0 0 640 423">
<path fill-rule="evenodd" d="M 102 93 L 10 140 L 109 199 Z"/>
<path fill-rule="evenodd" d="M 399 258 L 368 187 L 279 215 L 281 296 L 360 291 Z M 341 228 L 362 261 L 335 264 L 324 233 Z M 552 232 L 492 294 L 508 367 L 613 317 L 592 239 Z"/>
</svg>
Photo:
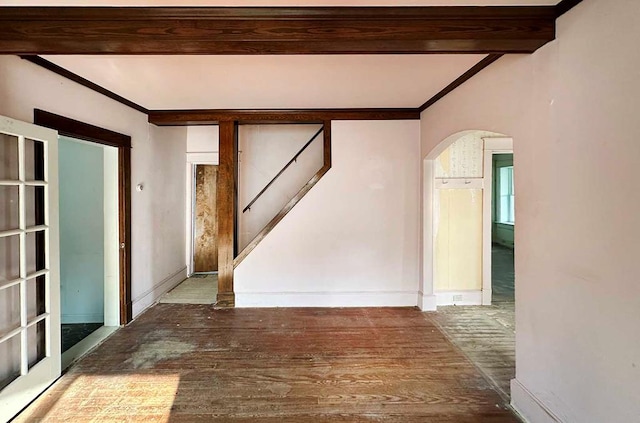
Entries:
<svg viewBox="0 0 640 423">
<path fill-rule="evenodd" d="M 419 123 L 332 124 L 333 166 L 238 266 L 238 306 L 415 306 Z"/>
</svg>

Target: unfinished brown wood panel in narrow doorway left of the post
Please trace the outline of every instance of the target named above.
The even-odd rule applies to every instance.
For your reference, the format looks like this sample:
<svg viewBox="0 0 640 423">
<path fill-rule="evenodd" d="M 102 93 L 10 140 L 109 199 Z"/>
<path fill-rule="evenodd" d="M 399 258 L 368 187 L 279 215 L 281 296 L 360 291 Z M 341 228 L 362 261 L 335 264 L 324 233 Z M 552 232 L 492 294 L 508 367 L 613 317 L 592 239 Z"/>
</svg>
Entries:
<svg viewBox="0 0 640 423">
<path fill-rule="evenodd" d="M 196 165 L 193 270 L 218 270 L 216 191 L 218 166 Z"/>
</svg>

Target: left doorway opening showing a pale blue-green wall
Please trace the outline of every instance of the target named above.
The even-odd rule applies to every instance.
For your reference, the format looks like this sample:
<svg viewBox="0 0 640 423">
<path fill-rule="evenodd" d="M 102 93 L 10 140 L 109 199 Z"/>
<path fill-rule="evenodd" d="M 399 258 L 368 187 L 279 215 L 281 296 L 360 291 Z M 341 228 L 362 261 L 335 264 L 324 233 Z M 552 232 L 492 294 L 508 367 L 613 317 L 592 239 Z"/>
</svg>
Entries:
<svg viewBox="0 0 640 423">
<path fill-rule="evenodd" d="M 120 325 L 118 150 L 60 136 L 63 368 Z"/>
</svg>

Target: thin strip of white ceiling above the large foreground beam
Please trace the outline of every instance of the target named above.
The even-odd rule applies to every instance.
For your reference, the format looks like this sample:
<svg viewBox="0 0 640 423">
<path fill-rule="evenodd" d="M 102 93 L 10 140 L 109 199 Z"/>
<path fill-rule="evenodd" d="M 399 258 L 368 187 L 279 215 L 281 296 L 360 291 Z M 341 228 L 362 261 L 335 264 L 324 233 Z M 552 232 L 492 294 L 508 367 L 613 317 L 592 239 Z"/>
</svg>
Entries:
<svg viewBox="0 0 640 423">
<path fill-rule="evenodd" d="M 0 0 L 0 6 L 536 6 L 560 0 Z"/>
</svg>

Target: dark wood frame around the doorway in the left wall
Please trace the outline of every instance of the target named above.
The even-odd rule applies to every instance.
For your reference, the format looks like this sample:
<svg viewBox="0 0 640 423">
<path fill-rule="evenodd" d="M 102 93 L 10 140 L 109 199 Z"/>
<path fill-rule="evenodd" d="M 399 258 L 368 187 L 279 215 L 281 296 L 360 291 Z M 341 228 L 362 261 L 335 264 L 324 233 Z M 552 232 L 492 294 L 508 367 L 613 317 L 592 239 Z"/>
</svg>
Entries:
<svg viewBox="0 0 640 423">
<path fill-rule="evenodd" d="M 131 301 L 131 137 L 74 119 L 34 109 L 36 125 L 59 135 L 118 149 L 118 234 L 120 241 L 120 324 L 133 318 Z"/>
</svg>

